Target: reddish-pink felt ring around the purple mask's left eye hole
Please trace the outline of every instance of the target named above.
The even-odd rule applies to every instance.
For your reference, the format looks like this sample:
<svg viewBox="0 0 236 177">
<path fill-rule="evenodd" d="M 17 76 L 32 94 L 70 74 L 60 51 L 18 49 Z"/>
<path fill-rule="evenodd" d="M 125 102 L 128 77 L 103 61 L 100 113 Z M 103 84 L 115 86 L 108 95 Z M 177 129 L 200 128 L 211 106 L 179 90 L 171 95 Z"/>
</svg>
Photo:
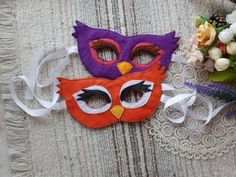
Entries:
<svg viewBox="0 0 236 177">
<path fill-rule="evenodd" d="M 91 51 L 91 55 L 92 55 L 93 59 L 98 64 L 113 65 L 120 57 L 119 44 L 116 41 L 114 41 L 113 39 L 109 39 L 109 38 L 96 39 L 96 40 L 89 42 L 89 47 L 90 47 L 90 51 Z M 101 58 L 98 55 L 98 51 L 103 50 L 103 49 L 109 49 L 109 50 L 113 51 L 115 53 L 116 57 L 110 61 L 105 61 L 103 58 Z"/>
</svg>

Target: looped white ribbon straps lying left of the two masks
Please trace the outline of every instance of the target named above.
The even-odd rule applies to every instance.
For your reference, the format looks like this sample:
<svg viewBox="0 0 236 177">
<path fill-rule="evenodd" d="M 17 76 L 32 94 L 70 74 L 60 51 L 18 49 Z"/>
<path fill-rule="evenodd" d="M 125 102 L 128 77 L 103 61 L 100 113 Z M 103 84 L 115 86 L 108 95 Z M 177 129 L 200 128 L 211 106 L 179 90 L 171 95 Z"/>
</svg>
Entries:
<svg viewBox="0 0 236 177">
<path fill-rule="evenodd" d="M 61 76 L 61 72 L 66 67 L 66 65 L 68 65 L 69 56 L 72 53 L 78 53 L 77 46 L 72 46 L 67 49 L 64 48 L 64 49 L 57 50 L 54 53 L 49 54 L 42 61 L 40 61 L 43 56 L 42 50 L 37 52 L 34 55 L 34 58 L 32 59 L 33 62 L 31 65 L 30 75 L 28 77 L 27 76 L 17 76 L 17 77 L 14 77 L 10 80 L 9 89 L 11 92 L 12 99 L 15 101 L 15 103 L 21 109 L 23 109 L 27 114 L 29 114 L 33 117 L 45 116 L 45 115 L 49 114 L 51 110 L 64 109 L 66 107 L 65 101 L 57 103 L 57 101 L 59 99 L 59 94 L 57 93 L 58 89 L 57 89 L 56 85 L 58 84 L 58 82 L 56 80 L 56 77 Z M 57 59 L 61 58 L 61 56 L 63 56 L 63 55 L 65 55 L 66 57 L 63 57 L 60 60 L 60 62 L 57 63 L 57 65 L 54 67 L 54 69 L 52 69 L 52 71 L 49 73 L 48 79 L 43 84 L 36 82 L 41 66 L 45 62 L 57 60 Z M 22 80 L 23 82 L 25 82 L 25 84 L 27 86 L 26 96 L 25 96 L 26 99 L 32 100 L 33 98 L 35 98 L 43 108 L 31 109 L 20 101 L 20 99 L 18 98 L 18 96 L 16 94 L 16 88 L 15 88 L 15 82 L 18 80 Z M 53 97 L 52 101 L 42 100 L 35 95 L 34 90 L 35 90 L 36 86 L 42 88 L 42 87 L 46 87 L 49 85 L 52 86 L 52 97 Z"/>
</svg>

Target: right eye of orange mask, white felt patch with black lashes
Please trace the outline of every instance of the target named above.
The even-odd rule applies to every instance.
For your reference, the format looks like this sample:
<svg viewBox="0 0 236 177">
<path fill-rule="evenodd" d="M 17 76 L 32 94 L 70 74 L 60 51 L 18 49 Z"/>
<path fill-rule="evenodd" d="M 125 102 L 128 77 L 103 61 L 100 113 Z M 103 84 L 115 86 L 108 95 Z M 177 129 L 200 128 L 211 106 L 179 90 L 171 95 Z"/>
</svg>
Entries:
<svg viewBox="0 0 236 177">
<path fill-rule="evenodd" d="M 145 105 L 151 96 L 153 86 L 153 82 L 144 80 L 131 80 L 126 82 L 120 91 L 120 101 L 122 106 L 132 109 Z M 138 99 L 130 101 L 127 99 L 130 95 L 135 95 Z"/>
</svg>

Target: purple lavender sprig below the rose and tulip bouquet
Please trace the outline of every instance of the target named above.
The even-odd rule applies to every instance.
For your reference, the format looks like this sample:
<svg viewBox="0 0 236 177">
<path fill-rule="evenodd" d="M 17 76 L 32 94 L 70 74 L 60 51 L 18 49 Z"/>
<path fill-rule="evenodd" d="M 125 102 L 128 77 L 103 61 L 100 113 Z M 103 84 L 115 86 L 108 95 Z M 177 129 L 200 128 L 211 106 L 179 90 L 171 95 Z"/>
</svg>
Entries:
<svg viewBox="0 0 236 177">
<path fill-rule="evenodd" d="M 217 97 L 226 102 L 231 102 L 236 100 L 236 91 L 230 89 L 224 84 L 210 83 L 208 85 L 200 85 L 189 82 L 185 82 L 184 84 L 185 86 L 194 89 L 199 93 L 207 94 L 212 97 Z"/>
</svg>

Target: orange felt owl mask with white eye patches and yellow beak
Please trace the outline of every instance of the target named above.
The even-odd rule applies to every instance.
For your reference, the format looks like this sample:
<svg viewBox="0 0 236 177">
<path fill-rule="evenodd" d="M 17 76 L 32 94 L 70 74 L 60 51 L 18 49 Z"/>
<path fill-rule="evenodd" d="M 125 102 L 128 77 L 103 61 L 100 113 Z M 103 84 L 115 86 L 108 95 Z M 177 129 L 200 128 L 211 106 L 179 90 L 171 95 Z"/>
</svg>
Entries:
<svg viewBox="0 0 236 177">
<path fill-rule="evenodd" d="M 160 102 L 164 77 L 164 69 L 158 63 L 147 71 L 115 80 L 58 78 L 58 93 L 64 97 L 75 120 L 90 128 L 101 128 L 118 121 L 137 122 L 149 118 Z M 136 102 L 127 102 L 125 97 L 129 91 L 138 91 L 142 95 Z M 106 103 L 99 108 L 91 107 L 87 101 L 95 95 L 103 97 Z"/>
</svg>

